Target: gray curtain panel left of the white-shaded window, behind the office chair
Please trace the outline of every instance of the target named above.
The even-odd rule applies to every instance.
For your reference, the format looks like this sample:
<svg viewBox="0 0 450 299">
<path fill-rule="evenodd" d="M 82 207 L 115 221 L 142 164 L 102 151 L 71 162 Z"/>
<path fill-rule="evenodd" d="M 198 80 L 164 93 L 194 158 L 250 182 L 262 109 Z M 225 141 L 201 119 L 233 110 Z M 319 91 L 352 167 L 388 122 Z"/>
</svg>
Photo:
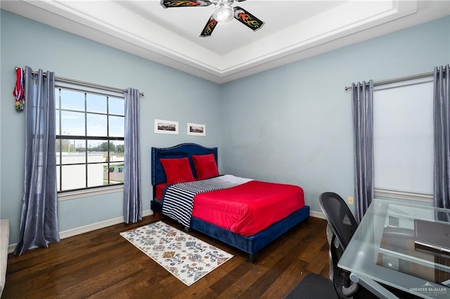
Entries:
<svg viewBox="0 0 450 299">
<path fill-rule="evenodd" d="M 352 84 L 355 218 L 373 200 L 373 81 Z"/>
</svg>

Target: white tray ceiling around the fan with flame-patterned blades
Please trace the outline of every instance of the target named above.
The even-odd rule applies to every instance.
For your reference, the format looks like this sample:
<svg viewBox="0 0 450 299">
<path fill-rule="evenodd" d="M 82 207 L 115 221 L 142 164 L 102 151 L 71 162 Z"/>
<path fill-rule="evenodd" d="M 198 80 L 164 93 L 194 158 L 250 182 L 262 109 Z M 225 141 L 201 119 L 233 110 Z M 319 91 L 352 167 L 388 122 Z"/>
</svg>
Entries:
<svg viewBox="0 0 450 299">
<path fill-rule="evenodd" d="M 450 1 L 257 1 L 235 3 L 265 22 L 236 20 L 199 34 L 214 6 L 164 9 L 148 1 L 1 0 L 26 18 L 225 83 L 450 14 Z"/>
</svg>

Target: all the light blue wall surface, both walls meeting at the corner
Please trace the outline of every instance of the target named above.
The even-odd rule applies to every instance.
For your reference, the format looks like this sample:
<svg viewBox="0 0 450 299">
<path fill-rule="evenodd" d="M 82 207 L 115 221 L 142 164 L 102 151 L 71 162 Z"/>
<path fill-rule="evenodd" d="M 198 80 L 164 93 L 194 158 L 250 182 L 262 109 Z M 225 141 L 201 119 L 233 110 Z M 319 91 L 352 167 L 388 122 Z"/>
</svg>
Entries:
<svg viewBox="0 0 450 299">
<path fill-rule="evenodd" d="M 344 87 L 446 65 L 449 36 L 450 17 L 441 18 L 219 86 L 1 11 L 0 216 L 11 220 L 10 244 L 18 239 L 25 144 L 24 114 L 15 112 L 11 95 L 16 65 L 146 93 L 144 210 L 152 197 L 150 147 L 199 142 L 219 147 L 221 173 L 301 185 L 312 211 L 320 211 L 321 192 L 354 194 L 352 106 Z M 153 133 L 155 118 L 179 121 L 180 134 Z M 187 122 L 206 124 L 207 136 L 186 135 Z M 58 213 L 60 231 L 117 218 L 122 193 L 60 201 Z"/>
</svg>

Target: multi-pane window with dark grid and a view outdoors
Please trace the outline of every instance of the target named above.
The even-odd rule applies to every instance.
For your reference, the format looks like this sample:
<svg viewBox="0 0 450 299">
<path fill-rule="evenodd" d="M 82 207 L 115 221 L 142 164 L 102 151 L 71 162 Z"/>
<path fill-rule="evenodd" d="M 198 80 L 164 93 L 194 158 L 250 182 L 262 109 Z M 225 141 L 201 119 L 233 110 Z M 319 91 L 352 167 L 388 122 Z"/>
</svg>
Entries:
<svg viewBox="0 0 450 299">
<path fill-rule="evenodd" d="M 56 82 L 58 192 L 124 182 L 124 98 Z"/>
</svg>

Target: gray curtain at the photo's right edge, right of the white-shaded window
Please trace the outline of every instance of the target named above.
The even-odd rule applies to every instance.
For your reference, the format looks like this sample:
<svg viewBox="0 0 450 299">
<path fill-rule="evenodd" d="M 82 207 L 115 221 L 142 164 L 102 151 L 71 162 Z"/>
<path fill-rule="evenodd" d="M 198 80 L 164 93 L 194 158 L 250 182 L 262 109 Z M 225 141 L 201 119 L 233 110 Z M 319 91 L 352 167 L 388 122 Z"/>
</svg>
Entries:
<svg viewBox="0 0 450 299">
<path fill-rule="evenodd" d="M 449 65 L 435 67 L 435 206 L 450 208 L 450 74 Z"/>
</svg>

